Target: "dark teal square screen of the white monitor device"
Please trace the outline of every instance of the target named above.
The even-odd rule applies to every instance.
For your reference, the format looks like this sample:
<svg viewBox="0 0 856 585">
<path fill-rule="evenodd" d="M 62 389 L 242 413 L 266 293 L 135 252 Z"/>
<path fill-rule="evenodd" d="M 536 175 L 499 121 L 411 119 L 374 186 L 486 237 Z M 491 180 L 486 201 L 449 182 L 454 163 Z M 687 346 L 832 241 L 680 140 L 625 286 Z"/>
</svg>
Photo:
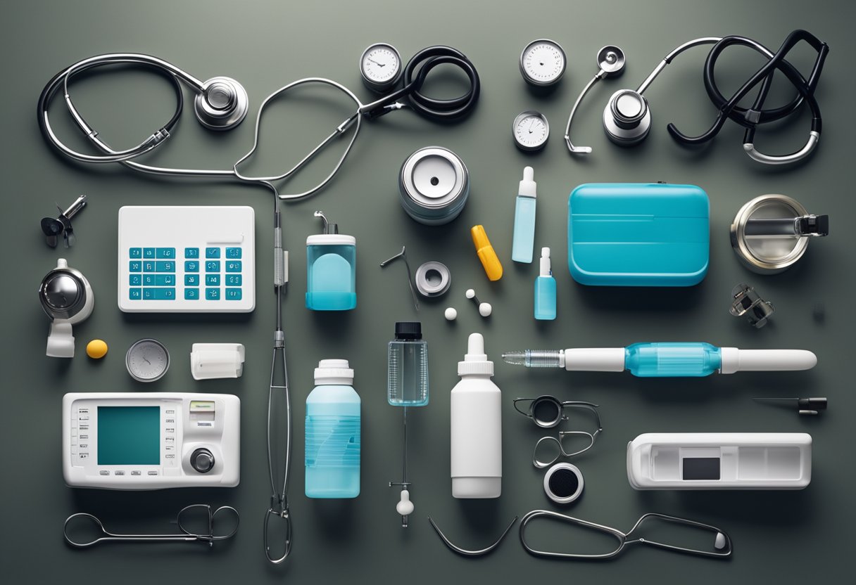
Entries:
<svg viewBox="0 0 856 585">
<path fill-rule="evenodd" d="M 98 406 L 98 465 L 159 465 L 159 406 Z"/>
</svg>

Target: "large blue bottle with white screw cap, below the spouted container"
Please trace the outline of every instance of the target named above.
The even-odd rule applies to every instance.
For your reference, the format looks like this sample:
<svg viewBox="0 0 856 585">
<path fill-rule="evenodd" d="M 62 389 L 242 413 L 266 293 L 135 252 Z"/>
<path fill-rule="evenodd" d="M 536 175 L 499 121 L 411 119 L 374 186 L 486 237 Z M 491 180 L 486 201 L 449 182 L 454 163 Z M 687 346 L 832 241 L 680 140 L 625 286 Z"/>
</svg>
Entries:
<svg viewBox="0 0 856 585">
<path fill-rule="evenodd" d="M 360 495 L 360 395 L 347 359 L 322 359 L 306 397 L 306 497 Z"/>
</svg>

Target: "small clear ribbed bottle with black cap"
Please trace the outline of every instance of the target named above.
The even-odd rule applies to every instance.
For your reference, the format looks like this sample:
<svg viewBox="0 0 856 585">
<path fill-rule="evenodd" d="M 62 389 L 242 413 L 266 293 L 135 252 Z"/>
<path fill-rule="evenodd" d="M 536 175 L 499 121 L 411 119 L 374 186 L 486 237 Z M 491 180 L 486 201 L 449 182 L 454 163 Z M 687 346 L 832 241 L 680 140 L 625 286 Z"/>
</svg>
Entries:
<svg viewBox="0 0 856 585">
<path fill-rule="evenodd" d="M 428 404 L 428 344 L 420 322 L 395 323 L 395 340 L 389 342 L 387 399 L 393 406 Z"/>
</svg>

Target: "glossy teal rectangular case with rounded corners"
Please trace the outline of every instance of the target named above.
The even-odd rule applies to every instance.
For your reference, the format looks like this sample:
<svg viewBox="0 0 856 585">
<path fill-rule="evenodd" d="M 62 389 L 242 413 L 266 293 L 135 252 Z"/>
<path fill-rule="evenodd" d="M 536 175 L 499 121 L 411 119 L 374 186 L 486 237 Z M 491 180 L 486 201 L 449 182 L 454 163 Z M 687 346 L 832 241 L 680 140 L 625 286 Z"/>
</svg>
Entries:
<svg viewBox="0 0 856 585">
<path fill-rule="evenodd" d="M 691 287 L 707 274 L 710 202 L 701 188 L 586 183 L 568 198 L 568 269 L 602 287 Z"/>
</svg>

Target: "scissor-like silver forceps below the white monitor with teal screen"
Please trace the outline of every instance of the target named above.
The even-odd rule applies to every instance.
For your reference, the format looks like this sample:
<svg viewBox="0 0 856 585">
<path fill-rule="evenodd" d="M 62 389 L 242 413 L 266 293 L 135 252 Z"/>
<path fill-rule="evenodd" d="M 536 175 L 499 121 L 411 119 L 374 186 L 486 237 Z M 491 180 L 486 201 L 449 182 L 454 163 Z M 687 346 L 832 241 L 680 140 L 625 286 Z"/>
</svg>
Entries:
<svg viewBox="0 0 856 585">
<path fill-rule="evenodd" d="M 208 532 L 201 535 L 191 532 L 184 524 L 181 523 L 181 517 L 185 512 L 198 509 L 205 510 L 208 515 Z M 217 514 L 220 514 L 221 512 L 227 513 L 227 515 L 228 513 L 235 515 L 235 528 L 229 533 L 215 535 L 214 520 L 217 518 Z M 68 527 L 74 523 L 80 524 L 80 519 L 86 519 L 90 523 L 94 524 L 95 527 L 101 531 L 102 535 L 96 536 L 90 541 L 74 541 L 74 539 L 68 535 Z M 77 548 L 88 548 L 102 542 L 207 542 L 209 547 L 213 547 L 214 542 L 225 541 L 232 538 L 232 536 L 235 536 L 235 533 L 238 531 L 239 520 L 240 517 L 238 516 L 238 511 L 230 505 L 222 505 L 217 508 L 217 510 L 212 511 L 210 505 L 192 504 L 181 508 L 175 516 L 175 523 L 178 525 L 178 529 L 181 530 L 180 533 L 171 535 L 117 535 L 116 533 L 105 529 L 104 524 L 101 523 L 98 517 L 92 516 L 92 514 L 86 514 L 86 512 L 80 512 L 78 514 L 72 514 L 65 519 L 65 523 L 62 525 L 62 535 L 65 536 L 65 541 L 68 542 L 68 544 Z"/>
</svg>

